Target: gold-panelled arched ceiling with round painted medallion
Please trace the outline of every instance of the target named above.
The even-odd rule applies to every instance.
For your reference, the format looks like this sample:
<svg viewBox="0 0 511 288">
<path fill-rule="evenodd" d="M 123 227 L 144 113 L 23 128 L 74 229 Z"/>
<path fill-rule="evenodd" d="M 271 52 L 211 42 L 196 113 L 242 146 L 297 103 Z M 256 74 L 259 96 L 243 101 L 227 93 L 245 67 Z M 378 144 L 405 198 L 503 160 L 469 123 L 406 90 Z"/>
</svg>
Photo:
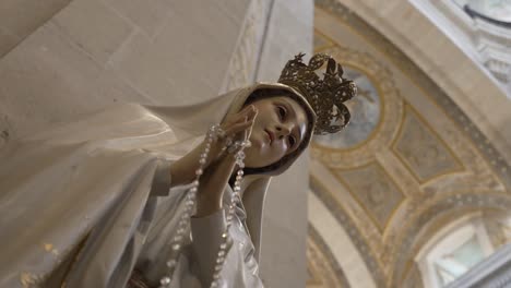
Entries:
<svg viewBox="0 0 511 288">
<path fill-rule="evenodd" d="M 334 0 L 316 1 L 314 50 L 359 94 L 312 145 L 308 287 L 423 287 L 418 259 L 471 215 L 491 251 L 511 241 L 509 166 L 426 73 Z"/>
</svg>

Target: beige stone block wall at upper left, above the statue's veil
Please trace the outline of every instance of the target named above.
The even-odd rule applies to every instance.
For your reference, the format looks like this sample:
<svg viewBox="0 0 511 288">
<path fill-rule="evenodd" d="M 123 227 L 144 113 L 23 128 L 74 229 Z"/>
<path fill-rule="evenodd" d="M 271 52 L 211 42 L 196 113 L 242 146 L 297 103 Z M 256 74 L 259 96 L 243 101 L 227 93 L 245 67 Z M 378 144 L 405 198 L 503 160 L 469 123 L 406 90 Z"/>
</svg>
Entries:
<svg viewBox="0 0 511 288">
<path fill-rule="evenodd" d="M 226 0 L 222 7 L 212 1 L 166 2 L 164 29 L 153 38 L 144 32 L 145 24 L 121 13 L 132 9 L 130 1 L 75 0 L 61 10 L 45 7 L 51 19 L 44 25 L 39 22 L 15 47 L 2 41 L 11 47 L 0 58 L 4 111 L 0 122 L 2 127 L 9 122 L 9 139 L 116 101 L 165 105 L 216 96 L 248 4 L 235 2 L 228 5 Z M 145 16 L 157 5 L 147 2 L 140 14 Z M 29 7 L 27 1 L 17 5 L 9 1 L 0 8 L 0 13 L 17 13 Z M 0 28 L 13 26 L 13 20 L 23 22 L 0 17 Z"/>
</svg>

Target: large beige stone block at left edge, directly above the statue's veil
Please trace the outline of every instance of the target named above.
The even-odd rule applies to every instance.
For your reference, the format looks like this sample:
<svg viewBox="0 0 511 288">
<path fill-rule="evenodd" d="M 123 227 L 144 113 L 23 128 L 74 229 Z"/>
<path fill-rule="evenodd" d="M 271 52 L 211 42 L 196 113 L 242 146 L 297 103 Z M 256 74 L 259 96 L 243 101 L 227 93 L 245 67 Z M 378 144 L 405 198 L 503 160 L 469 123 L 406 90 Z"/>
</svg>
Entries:
<svg viewBox="0 0 511 288">
<path fill-rule="evenodd" d="M 0 61 L 11 137 L 114 104 L 144 99 L 48 23 Z M 105 87 L 108 86 L 108 88 Z M 112 94 L 111 91 L 122 93 Z"/>
</svg>

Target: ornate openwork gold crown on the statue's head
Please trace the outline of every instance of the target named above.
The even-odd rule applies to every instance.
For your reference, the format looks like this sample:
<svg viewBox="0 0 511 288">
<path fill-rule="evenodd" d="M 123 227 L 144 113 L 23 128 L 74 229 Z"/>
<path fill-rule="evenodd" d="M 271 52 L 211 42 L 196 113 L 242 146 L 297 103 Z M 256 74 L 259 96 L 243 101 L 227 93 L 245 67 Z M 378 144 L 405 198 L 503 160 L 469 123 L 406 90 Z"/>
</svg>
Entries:
<svg viewBox="0 0 511 288">
<path fill-rule="evenodd" d="M 349 122 L 349 110 L 343 104 L 357 94 L 357 86 L 350 80 L 343 77 L 343 68 L 325 53 L 317 53 L 309 60 L 309 65 L 302 62 L 305 53 L 298 53 L 287 61 L 282 70 L 280 83 L 292 86 L 300 92 L 314 109 L 318 117 L 314 134 L 335 133 Z M 323 80 L 316 70 L 328 61 Z"/>
</svg>

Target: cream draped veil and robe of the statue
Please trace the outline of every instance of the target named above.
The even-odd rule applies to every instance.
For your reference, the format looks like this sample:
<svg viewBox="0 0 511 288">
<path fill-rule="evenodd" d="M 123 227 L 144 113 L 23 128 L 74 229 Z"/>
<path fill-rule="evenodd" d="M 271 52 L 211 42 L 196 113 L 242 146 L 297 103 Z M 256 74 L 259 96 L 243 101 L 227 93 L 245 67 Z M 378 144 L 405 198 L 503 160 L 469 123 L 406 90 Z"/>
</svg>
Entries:
<svg viewBox="0 0 511 288">
<path fill-rule="evenodd" d="M 191 106 L 124 104 L 9 143 L 0 151 L 0 287 L 124 287 L 133 269 L 156 283 L 186 193 L 186 185 L 168 189 L 169 167 L 251 92 L 273 87 L 296 93 L 255 84 Z M 229 287 L 261 286 L 257 262 L 270 178 L 247 185 L 223 271 L 239 286 Z M 203 224 L 192 229 L 202 240 L 213 233 L 199 236 L 207 230 Z M 204 283 L 191 243 L 174 287 Z"/>
</svg>

